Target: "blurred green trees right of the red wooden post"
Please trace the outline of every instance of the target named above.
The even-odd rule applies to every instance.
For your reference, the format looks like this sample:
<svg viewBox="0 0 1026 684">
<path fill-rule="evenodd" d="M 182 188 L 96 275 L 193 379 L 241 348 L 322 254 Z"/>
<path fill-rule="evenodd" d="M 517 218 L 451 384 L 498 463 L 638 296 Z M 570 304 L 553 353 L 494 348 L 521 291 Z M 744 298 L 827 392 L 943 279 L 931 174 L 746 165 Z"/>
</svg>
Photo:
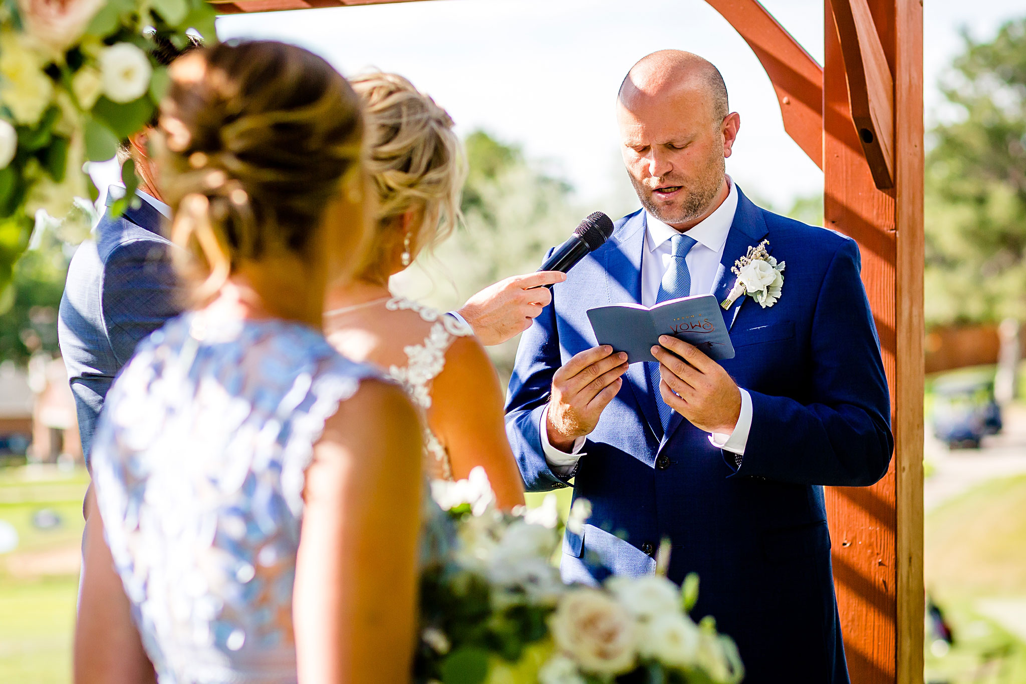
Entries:
<svg viewBox="0 0 1026 684">
<path fill-rule="evenodd" d="M 1026 318 L 1026 18 L 963 40 L 926 157 L 928 324 Z"/>
</svg>

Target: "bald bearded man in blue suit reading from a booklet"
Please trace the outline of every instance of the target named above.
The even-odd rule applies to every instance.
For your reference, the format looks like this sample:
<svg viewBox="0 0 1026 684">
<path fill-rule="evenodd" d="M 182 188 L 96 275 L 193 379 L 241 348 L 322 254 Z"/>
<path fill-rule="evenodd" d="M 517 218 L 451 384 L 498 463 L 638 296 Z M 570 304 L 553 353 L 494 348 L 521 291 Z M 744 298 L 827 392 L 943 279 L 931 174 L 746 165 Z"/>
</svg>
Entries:
<svg viewBox="0 0 1026 684">
<path fill-rule="evenodd" d="M 591 501 L 567 531 L 562 573 L 594 584 L 697 572 L 696 615 L 734 637 L 746 684 L 847 682 L 823 486 L 887 470 L 886 379 L 855 241 L 755 206 L 725 173 L 741 117 L 719 72 L 664 50 L 617 100 L 642 209 L 553 287 L 524 332 L 507 433 L 528 490 Z M 774 173 L 773 160 L 764 169 Z M 779 300 L 731 303 L 736 259 L 767 240 L 786 261 Z M 663 336 L 660 363 L 599 347 L 587 311 L 712 293 L 737 352 L 722 362 Z"/>
</svg>

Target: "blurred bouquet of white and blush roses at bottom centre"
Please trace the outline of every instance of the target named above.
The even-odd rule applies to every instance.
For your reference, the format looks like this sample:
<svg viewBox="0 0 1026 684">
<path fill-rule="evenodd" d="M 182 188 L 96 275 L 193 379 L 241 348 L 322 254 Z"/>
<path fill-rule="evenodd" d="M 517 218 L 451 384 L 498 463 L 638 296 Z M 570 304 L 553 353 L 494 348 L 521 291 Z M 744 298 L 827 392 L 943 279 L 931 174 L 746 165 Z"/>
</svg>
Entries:
<svg viewBox="0 0 1026 684">
<path fill-rule="evenodd" d="M 567 587 L 552 564 L 560 533 L 554 495 L 513 515 L 495 509 L 481 469 L 435 483 L 455 544 L 421 586 L 416 679 L 443 684 L 736 684 L 743 668 L 711 617 L 687 615 L 698 578 L 611 577 Z M 567 525 L 589 507 L 575 505 Z"/>
</svg>

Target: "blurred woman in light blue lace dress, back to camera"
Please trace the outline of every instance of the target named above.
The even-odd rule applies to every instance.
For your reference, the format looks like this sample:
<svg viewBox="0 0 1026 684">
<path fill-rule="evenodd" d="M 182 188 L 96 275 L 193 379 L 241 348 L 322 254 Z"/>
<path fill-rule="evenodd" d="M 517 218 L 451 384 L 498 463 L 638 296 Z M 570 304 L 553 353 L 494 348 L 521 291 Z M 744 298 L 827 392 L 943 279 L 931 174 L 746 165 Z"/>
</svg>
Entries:
<svg viewBox="0 0 1026 684">
<path fill-rule="evenodd" d="M 418 417 L 320 333 L 365 237 L 357 96 L 274 42 L 170 75 L 162 185 L 197 306 L 108 396 L 75 679 L 408 681 Z"/>
</svg>

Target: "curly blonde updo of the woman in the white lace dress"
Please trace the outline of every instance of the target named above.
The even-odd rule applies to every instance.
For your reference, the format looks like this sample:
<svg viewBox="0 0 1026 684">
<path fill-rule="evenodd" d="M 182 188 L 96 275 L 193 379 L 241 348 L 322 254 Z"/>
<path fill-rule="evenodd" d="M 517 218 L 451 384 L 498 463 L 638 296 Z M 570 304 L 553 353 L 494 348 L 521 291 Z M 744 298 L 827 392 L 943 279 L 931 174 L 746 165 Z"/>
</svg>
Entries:
<svg viewBox="0 0 1026 684">
<path fill-rule="evenodd" d="M 448 237 L 461 218 L 460 197 L 467 164 L 452 119 L 427 94 L 397 74 L 352 79 L 366 116 L 365 167 L 377 192 L 377 218 L 364 276 L 387 279 L 406 235 L 401 217 L 421 220 L 409 229 L 409 255 Z"/>
</svg>

